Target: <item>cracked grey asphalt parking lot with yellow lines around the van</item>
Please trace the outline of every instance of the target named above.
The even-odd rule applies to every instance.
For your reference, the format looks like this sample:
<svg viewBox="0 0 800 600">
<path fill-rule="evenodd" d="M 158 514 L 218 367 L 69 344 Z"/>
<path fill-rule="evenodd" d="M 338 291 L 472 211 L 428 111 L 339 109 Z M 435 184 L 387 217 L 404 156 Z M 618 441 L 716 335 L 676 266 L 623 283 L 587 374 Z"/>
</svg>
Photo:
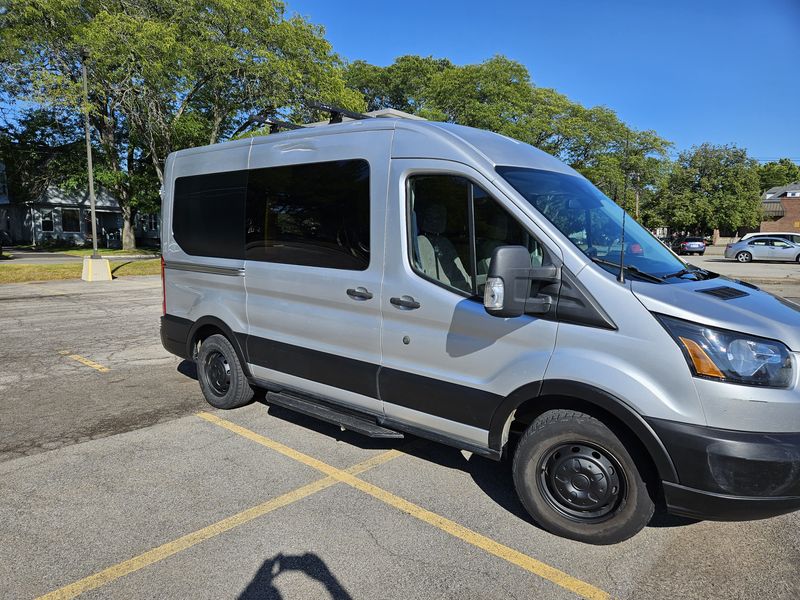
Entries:
<svg viewBox="0 0 800 600">
<path fill-rule="evenodd" d="M 157 277 L 0 286 L 0 597 L 800 597 L 800 513 L 560 539 L 508 462 L 211 409 L 160 310 Z"/>
</svg>

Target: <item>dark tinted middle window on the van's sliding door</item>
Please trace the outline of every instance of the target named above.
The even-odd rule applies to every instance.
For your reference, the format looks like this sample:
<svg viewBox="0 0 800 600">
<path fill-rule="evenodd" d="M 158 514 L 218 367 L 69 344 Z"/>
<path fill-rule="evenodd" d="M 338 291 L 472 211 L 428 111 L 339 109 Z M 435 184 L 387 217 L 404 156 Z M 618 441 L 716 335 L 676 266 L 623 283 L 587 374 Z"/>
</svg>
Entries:
<svg viewBox="0 0 800 600">
<path fill-rule="evenodd" d="M 253 169 L 246 257 L 363 271 L 369 267 L 369 202 L 365 160 Z"/>
</svg>

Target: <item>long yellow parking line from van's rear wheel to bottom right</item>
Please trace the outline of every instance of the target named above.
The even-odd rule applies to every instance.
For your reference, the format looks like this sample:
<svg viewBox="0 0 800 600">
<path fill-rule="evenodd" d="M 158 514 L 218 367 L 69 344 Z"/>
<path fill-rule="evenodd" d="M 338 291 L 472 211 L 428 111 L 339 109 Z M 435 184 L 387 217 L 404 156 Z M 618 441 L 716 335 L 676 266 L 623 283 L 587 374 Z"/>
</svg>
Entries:
<svg viewBox="0 0 800 600">
<path fill-rule="evenodd" d="M 293 448 L 289 448 L 280 442 L 276 442 L 275 440 L 264 437 L 263 435 L 242 427 L 241 425 L 221 419 L 216 415 L 212 415 L 211 413 L 201 412 L 198 413 L 198 416 L 210 423 L 224 427 L 225 429 L 241 435 L 242 437 L 261 444 L 262 446 L 266 446 L 267 448 L 275 450 L 276 452 L 292 458 L 306 466 L 317 469 L 333 479 L 341 481 L 350 487 L 369 494 L 381 502 L 393 506 L 394 508 L 409 514 L 412 517 L 424 521 L 425 523 L 428 523 L 429 525 L 432 525 L 433 527 L 436 527 L 437 529 L 444 531 L 453 537 L 463 540 L 468 544 L 475 546 L 476 548 L 480 548 L 489 554 L 525 569 L 534 575 L 538 575 L 539 577 L 546 579 L 547 581 L 550 581 L 551 583 L 554 583 L 566 590 L 569 590 L 578 596 L 590 600 L 606 600 L 610 598 L 610 595 L 607 592 L 593 586 L 590 583 L 577 579 L 576 577 L 556 569 L 555 567 L 551 567 L 550 565 L 532 558 L 527 554 L 505 546 L 500 542 L 473 531 L 468 527 L 464 527 L 455 521 L 451 521 L 446 517 L 437 515 L 436 513 L 422 508 L 413 502 L 409 502 L 408 500 L 401 498 L 396 494 L 368 483 L 363 479 L 359 479 L 358 477 L 355 477 L 355 474 L 353 473 L 337 469 L 336 467 L 322 462 L 321 460 L 318 460 L 312 456 L 308 456 L 307 454 L 303 454 L 302 452 L 294 450 Z"/>
</svg>

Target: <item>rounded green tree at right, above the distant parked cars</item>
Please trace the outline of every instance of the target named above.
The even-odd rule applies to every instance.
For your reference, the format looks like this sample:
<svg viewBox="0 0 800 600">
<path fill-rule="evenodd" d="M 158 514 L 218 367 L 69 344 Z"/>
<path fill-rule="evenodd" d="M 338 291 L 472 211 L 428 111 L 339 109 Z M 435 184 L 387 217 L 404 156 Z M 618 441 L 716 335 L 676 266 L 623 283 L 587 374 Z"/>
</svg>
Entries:
<svg viewBox="0 0 800 600">
<path fill-rule="evenodd" d="M 736 146 L 702 144 L 682 152 L 660 191 L 673 228 L 738 231 L 761 220 L 758 163 Z"/>
</svg>

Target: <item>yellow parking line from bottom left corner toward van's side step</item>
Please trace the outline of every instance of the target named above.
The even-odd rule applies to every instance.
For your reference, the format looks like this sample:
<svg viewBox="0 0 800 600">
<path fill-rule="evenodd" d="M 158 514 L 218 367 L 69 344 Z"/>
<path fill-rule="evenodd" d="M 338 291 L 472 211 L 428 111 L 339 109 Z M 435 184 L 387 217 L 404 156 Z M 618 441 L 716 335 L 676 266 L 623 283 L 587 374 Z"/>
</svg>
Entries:
<svg viewBox="0 0 800 600">
<path fill-rule="evenodd" d="M 358 475 L 400 456 L 405 456 L 405 453 L 398 450 L 389 450 L 353 465 L 352 467 L 345 469 L 343 472 L 351 475 Z M 266 502 L 258 504 L 257 506 L 253 506 L 252 508 L 248 508 L 240 513 L 208 525 L 207 527 L 203 527 L 202 529 L 188 533 L 176 540 L 162 544 L 157 548 L 148 550 L 147 552 L 139 554 L 138 556 L 134 556 L 131 559 L 116 565 L 112 565 L 95 573 L 94 575 L 89 575 L 88 577 L 79 579 L 78 581 L 52 591 L 49 594 L 40 596 L 37 598 L 37 600 L 64 600 L 67 598 L 75 598 L 80 594 L 97 589 L 103 585 L 106 585 L 107 583 L 111 583 L 112 581 L 124 577 L 125 575 L 139 571 L 149 565 L 177 554 L 178 552 L 182 552 L 183 550 L 191 548 L 192 546 L 195 546 L 201 542 L 216 537 L 221 533 L 225 533 L 226 531 L 230 531 L 231 529 L 239 527 L 240 525 L 244 525 L 245 523 L 262 515 L 293 504 L 298 500 L 307 498 L 308 496 L 316 494 L 317 492 L 321 492 L 322 490 L 336 485 L 339 482 L 340 480 L 336 477 L 323 477 L 322 479 L 313 481 L 307 485 L 292 490 L 291 492 L 287 492 L 282 496 L 267 500 Z"/>
</svg>

